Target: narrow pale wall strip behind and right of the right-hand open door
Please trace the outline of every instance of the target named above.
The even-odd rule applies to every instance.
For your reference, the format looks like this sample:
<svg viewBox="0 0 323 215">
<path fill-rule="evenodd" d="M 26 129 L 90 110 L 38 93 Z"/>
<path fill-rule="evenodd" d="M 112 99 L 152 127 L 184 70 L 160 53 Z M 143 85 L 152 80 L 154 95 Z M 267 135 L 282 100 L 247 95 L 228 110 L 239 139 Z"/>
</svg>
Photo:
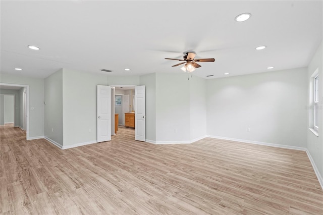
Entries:
<svg viewBox="0 0 323 215">
<path fill-rule="evenodd" d="M 146 86 L 146 141 L 156 141 L 156 74 L 140 76 L 140 85 Z"/>
</svg>

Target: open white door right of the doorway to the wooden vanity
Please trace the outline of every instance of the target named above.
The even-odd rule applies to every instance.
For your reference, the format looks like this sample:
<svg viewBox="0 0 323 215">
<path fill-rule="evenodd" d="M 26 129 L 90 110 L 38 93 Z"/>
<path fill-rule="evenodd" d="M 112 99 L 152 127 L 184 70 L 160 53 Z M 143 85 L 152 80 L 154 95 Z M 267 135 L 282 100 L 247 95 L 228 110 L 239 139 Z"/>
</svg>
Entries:
<svg viewBox="0 0 323 215">
<path fill-rule="evenodd" d="M 146 86 L 135 87 L 135 140 L 146 141 Z"/>
</svg>

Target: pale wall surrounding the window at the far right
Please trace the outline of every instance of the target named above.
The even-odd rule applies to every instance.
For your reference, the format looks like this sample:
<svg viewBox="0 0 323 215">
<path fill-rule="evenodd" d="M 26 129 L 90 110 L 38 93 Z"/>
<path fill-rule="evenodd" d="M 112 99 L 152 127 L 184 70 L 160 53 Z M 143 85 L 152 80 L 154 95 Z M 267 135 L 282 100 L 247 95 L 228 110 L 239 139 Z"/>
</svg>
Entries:
<svg viewBox="0 0 323 215">
<path fill-rule="evenodd" d="M 311 62 L 308 65 L 308 73 L 307 73 L 307 105 L 309 104 L 309 82 L 310 82 L 310 76 L 314 73 L 314 71 L 318 68 L 318 76 L 319 76 L 319 102 L 320 102 L 320 109 L 318 110 L 319 115 L 319 122 L 318 122 L 318 137 L 315 136 L 309 129 L 307 129 L 307 149 L 313 159 L 313 162 L 315 163 L 315 166 L 317 168 L 318 174 L 320 175 L 320 182 L 321 185 L 323 184 L 322 178 L 323 178 L 323 115 L 322 115 L 322 96 L 323 96 L 323 65 L 322 65 L 322 43 L 318 46 Z M 310 110 L 308 110 L 307 113 L 307 128 L 309 127 L 309 118 L 310 118 Z"/>
</svg>

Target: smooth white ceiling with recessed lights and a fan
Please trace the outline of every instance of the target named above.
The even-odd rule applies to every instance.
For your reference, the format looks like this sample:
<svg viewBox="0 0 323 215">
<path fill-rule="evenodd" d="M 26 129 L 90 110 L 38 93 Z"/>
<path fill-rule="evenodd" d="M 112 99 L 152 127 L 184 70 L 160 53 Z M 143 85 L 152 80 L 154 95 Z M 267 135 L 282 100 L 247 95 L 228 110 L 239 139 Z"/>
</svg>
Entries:
<svg viewBox="0 0 323 215">
<path fill-rule="evenodd" d="M 306 67 L 322 41 L 322 1 L 1 1 L 1 73 L 60 68 L 107 75 L 181 73 L 183 52 L 211 78 Z M 249 12 L 251 18 L 234 18 Z M 38 51 L 27 48 L 36 45 Z M 256 51 L 254 48 L 266 45 Z M 15 71 L 14 68 L 23 71 Z M 130 68 L 131 71 L 125 71 Z M 101 69 L 113 70 L 111 73 Z M 271 71 L 273 71 L 271 70 Z"/>
</svg>

